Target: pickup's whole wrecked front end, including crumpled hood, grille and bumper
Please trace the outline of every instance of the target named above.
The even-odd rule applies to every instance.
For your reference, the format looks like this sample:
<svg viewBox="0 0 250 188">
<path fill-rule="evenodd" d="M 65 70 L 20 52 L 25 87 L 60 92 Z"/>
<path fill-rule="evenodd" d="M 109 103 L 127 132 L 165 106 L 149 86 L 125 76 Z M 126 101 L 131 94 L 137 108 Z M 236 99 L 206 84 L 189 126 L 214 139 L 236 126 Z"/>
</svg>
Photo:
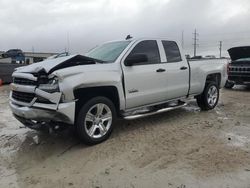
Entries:
<svg viewBox="0 0 250 188">
<path fill-rule="evenodd" d="M 72 55 L 45 60 L 16 70 L 12 75 L 10 93 L 10 107 L 14 116 L 30 128 L 73 125 L 75 101 L 64 100 L 64 91 L 60 88 L 64 84 L 63 79 L 53 73 L 59 69 L 96 63 L 102 61 Z"/>
</svg>

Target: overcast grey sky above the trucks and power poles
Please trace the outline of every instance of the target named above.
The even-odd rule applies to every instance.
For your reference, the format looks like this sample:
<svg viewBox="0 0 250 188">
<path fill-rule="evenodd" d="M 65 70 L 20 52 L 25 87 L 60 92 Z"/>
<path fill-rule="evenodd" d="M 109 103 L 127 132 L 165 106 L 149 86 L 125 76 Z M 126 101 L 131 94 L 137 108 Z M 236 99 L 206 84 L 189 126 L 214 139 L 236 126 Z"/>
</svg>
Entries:
<svg viewBox="0 0 250 188">
<path fill-rule="evenodd" d="M 193 55 L 222 55 L 250 45 L 249 0 L 0 0 L 0 51 L 84 54 L 94 46 L 133 37 L 181 41 Z"/>
</svg>

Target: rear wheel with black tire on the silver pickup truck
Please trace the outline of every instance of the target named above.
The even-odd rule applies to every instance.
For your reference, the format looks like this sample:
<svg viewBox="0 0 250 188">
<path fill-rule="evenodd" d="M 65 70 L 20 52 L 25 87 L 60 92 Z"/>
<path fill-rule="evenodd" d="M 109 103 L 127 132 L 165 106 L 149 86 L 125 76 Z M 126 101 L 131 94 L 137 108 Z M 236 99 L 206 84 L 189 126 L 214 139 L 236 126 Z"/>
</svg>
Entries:
<svg viewBox="0 0 250 188">
<path fill-rule="evenodd" d="M 215 93 L 216 99 L 210 102 L 209 92 L 211 91 L 211 88 L 216 89 L 217 94 Z M 203 93 L 196 97 L 196 101 L 201 110 L 211 110 L 217 105 L 219 101 L 219 95 L 218 85 L 215 82 L 210 82 L 206 84 Z"/>
</svg>

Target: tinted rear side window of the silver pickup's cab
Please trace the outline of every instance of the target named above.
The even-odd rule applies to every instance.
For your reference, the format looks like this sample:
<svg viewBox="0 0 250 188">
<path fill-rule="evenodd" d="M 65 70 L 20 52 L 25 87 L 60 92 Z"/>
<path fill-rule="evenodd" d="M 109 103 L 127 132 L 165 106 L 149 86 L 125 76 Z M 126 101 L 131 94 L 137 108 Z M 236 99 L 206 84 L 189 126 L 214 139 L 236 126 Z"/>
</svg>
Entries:
<svg viewBox="0 0 250 188">
<path fill-rule="evenodd" d="M 182 61 L 180 49 L 176 42 L 163 40 L 162 44 L 166 54 L 167 63 Z"/>
</svg>

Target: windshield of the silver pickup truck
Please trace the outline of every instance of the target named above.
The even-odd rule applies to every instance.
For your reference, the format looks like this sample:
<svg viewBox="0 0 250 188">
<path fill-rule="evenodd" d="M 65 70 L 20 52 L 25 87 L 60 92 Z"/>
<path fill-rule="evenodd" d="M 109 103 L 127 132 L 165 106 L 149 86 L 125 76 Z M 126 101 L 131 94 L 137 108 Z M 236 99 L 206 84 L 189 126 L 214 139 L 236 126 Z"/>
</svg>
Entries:
<svg viewBox="0 0 250 188">
<path fill-rule="evenodd" d="M 117 41 L 105 43 L 88 52 L 86 56 L 104 62 L 114 62 L 130 42 L 131 41 Z"/>
</svg>

